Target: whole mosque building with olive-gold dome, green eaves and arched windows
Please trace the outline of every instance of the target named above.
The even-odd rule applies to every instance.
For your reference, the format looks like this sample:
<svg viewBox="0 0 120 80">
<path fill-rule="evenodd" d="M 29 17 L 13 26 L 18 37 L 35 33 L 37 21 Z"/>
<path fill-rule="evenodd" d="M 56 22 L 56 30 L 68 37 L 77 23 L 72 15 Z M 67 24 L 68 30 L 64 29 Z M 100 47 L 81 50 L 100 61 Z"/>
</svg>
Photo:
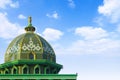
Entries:
<svg viewBox="0 0 120 80">
<path fill-rule="evenodd" d="M 35 33 L 31 22 L 29 17 L 26 33 L 9 44 L 0 64 L 0 80 L 76 80 L 77 74 L 59 74 L 63 66 L 56 63 L 53 48 Z"/>
</svg>

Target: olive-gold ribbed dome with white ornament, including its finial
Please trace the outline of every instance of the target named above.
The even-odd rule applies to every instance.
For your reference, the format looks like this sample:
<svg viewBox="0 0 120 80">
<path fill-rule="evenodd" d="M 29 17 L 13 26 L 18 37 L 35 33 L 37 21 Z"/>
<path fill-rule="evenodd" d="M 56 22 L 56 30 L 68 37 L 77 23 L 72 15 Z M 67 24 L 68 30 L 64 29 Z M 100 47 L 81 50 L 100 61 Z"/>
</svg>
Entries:
<svg viewBox="0 0 120 80">
<path fill-rule="evenodd" d="M 8 46 L 5 62 L 15 60 L 41 60 L 56 62 L 56 56 L 51 45 L 41 36 L 34 33 L 31 17 L 25 27 L 26 33 L 17 36 Z"/>
</svg>

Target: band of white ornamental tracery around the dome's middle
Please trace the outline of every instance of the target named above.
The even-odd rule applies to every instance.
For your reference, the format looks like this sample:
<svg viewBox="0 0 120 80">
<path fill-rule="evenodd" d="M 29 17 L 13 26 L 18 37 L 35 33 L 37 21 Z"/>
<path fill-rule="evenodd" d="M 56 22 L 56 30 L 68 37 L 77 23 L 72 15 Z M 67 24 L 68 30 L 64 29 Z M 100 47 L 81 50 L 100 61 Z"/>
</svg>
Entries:
<svg viewBox="0 0 120 80">
<path fill-rule="evenodd" d="M 39 43 L 34 43 L 34 41 L 32 40 L 32 38 L 29 38 L 28 43 L 23 43 L 23 45 L 21 46 L 20 44 L 16 44 L 14 43 L 14 45 L 12 47 L 9 47 L 7 50 L 7 54 L 10 53 L 16 53 L 18 52 L 21 48 L 23 51 L 40 51 L 42 48 L 45 52 L 47 53 L 54 53 L 54 51 L 51 49 L 51 47 L 46 44 L 46 42 L 43 42 L 45 45 L 43 47 L 40 47 Z"/>
</svg>

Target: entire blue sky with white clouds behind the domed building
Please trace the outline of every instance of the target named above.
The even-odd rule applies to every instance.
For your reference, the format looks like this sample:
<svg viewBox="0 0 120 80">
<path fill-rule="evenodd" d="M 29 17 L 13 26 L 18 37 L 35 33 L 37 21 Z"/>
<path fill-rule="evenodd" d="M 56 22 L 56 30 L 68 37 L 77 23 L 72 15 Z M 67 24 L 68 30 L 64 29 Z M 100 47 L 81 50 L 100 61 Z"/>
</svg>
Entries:
<svg viewBox="0 0 120 80">
<path fill-rule="evenodd" d="M 54 48 L 61 74 L 120 80 L 119 0 L 0 0 L 0 63 L 28 16 Z"/>
</svg>

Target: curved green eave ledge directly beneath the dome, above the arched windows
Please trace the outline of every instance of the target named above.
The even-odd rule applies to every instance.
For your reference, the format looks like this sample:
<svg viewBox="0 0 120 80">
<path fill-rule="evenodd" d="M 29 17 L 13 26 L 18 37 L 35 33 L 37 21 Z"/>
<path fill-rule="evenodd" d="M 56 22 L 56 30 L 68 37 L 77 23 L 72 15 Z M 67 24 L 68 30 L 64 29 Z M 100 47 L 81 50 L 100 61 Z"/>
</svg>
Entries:
<svg viewBox="0 0 120 80">
<path fill-rule="evenodd" d="M 16 61 L 10 61 L 10 62 L 6 62 L 3 64 L 0 64 L 0 69 L 4 69 L 4 68 L 8 68 L 8 67 L 12 67 L 14 65 L 32 65 L 32 64 L 42 64 L 42 65 L 49 65 L 51 67 L 57 67 L 59 69 L 63 68 L 62 65 L 57 64 L 57 63 L 53 63 L 47 60 L 16 60 Z"/>
</svg>

